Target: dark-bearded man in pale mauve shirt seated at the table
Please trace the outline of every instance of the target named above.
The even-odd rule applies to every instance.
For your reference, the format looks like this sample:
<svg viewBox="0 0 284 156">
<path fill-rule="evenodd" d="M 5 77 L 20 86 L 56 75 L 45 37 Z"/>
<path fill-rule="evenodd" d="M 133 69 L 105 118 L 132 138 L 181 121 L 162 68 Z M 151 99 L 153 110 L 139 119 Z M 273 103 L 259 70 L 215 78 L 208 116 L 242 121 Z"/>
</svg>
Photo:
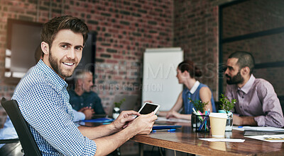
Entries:
<svg viewBox="0 0 284 156">
<path fill-rule="evenodd" d="M 280 102 L 271 83 L 252 74 L 254 59 L 249 52 L 234 52 L 226 62 L 226 97 L 236 99 L 233 124 L 283 127 Z"/>
</svg>

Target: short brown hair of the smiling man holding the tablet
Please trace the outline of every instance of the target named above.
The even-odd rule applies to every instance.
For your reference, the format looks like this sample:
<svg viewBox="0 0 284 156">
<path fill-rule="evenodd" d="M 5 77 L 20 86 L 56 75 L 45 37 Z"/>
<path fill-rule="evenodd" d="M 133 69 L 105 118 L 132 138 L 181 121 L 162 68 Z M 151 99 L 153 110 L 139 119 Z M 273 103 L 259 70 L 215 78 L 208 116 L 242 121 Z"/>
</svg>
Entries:
<svg viewBox="0 0 284 156">
<path fill-rule="evenodd" d="M 80 32 L 83 35 L 83 45 L 85 44 L 88 37 L 88 27 L 80 20 L 72 16 L 60 16 L 49 20 L 43 24 L 41 30 L 41 41 L 48 43 L 49 47 L 52 46 L 55 35 L 63 29 L 70 29 L 73 32 Z"/>
</svg>

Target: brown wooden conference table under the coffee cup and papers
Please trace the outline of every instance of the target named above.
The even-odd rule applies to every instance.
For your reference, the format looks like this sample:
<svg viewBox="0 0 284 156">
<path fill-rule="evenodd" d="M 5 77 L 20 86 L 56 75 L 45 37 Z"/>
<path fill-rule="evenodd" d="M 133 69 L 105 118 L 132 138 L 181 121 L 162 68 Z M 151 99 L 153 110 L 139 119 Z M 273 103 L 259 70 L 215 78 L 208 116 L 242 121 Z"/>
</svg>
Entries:
<svg viewBox="0 0 284 156">
<path fill-rule="evenodd" d="M 131 140 L 142 143 L 141 145 L 154 145 L 195 155 L 284 155 L 284 143 L 246 138 L 244 131 L 233 130 L 225 134 L 225 138 L 245 139 L 244 143 L 209 142 L 198 138 L 211 136 L 210 133 L 196 133 L 187 124 L 175 132 L 157 131 L 149 135 L 134 136 Z M 143 155 L 143 152 L 140 153 Z"/>
</svg>

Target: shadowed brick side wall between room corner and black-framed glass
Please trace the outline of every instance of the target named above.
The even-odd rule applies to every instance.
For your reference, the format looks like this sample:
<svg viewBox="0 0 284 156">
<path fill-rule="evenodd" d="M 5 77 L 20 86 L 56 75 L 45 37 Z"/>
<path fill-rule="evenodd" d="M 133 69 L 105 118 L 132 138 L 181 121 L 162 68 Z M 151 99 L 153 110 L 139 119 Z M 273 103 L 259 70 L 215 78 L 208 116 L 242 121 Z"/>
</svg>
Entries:
<svg viewBox="0 0 284 156">
<path fill-rule="evenodd" d="M 217 97 L 218 6 L 217 1 L 175 1 L 174 46 L 182 47 L 185 59 L 202 69 L 200 82 Z"/>
</svg>

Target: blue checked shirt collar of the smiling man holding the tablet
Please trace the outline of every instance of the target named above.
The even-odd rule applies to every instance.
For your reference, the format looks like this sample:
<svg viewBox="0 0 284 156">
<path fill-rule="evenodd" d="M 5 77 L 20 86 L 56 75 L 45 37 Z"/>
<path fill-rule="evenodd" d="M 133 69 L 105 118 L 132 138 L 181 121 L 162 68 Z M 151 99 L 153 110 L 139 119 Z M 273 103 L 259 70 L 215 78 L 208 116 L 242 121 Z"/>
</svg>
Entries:
<svg viewBox="0 0 284 156">
<path fill-rule="evenodd" d="M 58 88 L 58 90 L 62 90 L 64 88 L 67 88 L 67 83 L 65 80 L 63 80 L 62 78 L 60 78 L 60 76 L 58 76 L 57 73 L 55 73 L 55 71 L 53 71 L 52 68 L 50 68 L 48 65 L 46 65 L 43 60 L 40 59 L 40 61 L 38 61 L 38 64 L 36 64 L 36 66 L 38 66 L 38 68 L 40 68 L 43 73 L 45 73 L 45 75 L 50 78 L 51 81 L 53 81 L 56 85 L 56 87 Z"/>
</svg>

